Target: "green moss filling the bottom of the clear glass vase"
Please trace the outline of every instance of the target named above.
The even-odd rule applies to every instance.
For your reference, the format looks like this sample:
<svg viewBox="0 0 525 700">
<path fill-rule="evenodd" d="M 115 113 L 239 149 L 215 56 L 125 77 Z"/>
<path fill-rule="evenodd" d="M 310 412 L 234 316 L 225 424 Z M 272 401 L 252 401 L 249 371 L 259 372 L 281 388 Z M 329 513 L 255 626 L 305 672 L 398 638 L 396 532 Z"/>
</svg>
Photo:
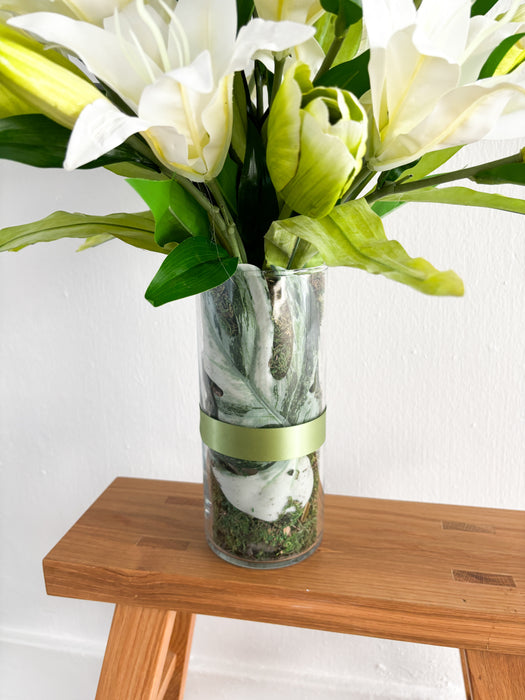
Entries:
<svg viewBox="0 0 525 700">
<path fill-rule="evenodd" d="M 284 513 L 272 522 L 259 520 L 238 510 L 224 497 L 213 476 L 213 539 L 221 550 L 247 561 L 277 561 L 292 558 L 308 551 L 316 543 L 319 530 L 319 469 L 318 453 L 309 455 L 314 487 L 304 508 L 292 499 L 287 507 L 293 512 Z"/>
</svg>

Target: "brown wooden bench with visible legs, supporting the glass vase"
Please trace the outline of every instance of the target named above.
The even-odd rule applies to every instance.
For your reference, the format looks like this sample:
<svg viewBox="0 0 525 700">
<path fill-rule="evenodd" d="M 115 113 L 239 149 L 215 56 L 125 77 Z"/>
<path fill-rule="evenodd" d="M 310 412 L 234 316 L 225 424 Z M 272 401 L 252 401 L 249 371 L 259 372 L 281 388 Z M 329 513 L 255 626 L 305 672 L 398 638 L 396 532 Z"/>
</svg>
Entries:
<svg viewBox="0 0 525 700">
<path fill-rule="evenodd" d="M 525 700 L 525 512 L 326 496 L 325 535 L 241 569 L 202 486 L 118 478 L 44 560 L 47 591 L 116 604 L 96 700 L 181 700 L 196 614 L 457 647 L 469 700 Z"/>
</svg>

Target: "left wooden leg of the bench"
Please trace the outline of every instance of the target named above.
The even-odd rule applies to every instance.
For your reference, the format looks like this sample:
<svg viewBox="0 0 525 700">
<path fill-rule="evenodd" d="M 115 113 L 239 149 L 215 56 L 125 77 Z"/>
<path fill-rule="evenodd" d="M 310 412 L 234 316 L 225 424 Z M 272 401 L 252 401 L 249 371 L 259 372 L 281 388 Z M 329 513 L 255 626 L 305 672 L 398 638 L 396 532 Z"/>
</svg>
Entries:
<svg viewBox="0 0 525 700">
<path fill-rule="evenodd" d="M 117 605 L 96 700 L 182 700 L 195 615 Z"/>
</svg>

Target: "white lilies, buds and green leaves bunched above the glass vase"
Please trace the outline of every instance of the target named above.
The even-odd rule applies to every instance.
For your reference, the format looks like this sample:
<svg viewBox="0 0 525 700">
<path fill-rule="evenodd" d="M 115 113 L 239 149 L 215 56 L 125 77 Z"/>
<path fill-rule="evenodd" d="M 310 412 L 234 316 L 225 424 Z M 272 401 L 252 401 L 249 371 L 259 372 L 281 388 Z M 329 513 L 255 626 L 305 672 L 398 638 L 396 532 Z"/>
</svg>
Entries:
<svg viewBox="0 0 525 700">
<path fill-rule="evenodd" d="M 525 184 L 525 149 L 433 174 L 463 146 L 525 136 L 525 4 L 512 0 L 0 0 L 0 157 L 105 167 L 148 206 L 56 212 L 0 250 L 113 238 L 165 256 L 154 305 L 239 263 L 324 263 L 460 295 L 388 240 L 406 202 L 525 213 L 449 183 Z"/>
</svg>

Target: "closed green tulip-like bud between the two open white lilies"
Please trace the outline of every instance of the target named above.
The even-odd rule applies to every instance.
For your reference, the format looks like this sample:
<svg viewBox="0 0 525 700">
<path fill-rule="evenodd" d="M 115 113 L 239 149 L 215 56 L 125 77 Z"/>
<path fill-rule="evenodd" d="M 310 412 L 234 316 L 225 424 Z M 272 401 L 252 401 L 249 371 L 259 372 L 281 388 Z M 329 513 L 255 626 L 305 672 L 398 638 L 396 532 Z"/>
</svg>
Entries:
<svg viewBox="0 0 525 700">
<path fill-rule="evenodd" d="M 326 216 L 361 170 L 367 118 L 352 93 L 314 87 L 305 64 L 285 74 L 268 119 L 273 185 L 299 214 Z"/>
</svg>

